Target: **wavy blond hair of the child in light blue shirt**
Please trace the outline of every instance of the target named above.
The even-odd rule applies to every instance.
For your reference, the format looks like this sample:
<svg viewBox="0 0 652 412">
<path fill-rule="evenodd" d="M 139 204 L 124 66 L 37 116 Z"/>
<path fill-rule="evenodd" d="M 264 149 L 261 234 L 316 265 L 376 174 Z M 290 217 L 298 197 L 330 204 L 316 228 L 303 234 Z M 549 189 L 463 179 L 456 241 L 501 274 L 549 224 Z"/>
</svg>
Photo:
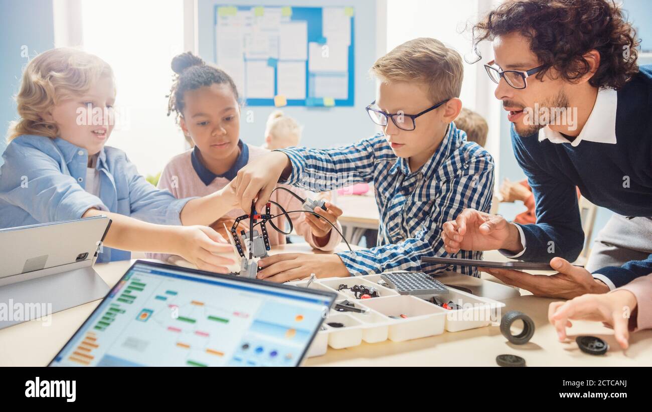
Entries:
<svg viewBox="0 0 652 412">
<path fill-rule="evenodd" d="M 106 61 L 72 48 L 55 48 L 32 59 L 15 96 L 19 119 L 9 125 L 7 141 L 22 134 L 57 137 L 59 128 L 43 113 L 61 100 L 83 95 L 103 76 L 113 78 Z"/>
</svg>

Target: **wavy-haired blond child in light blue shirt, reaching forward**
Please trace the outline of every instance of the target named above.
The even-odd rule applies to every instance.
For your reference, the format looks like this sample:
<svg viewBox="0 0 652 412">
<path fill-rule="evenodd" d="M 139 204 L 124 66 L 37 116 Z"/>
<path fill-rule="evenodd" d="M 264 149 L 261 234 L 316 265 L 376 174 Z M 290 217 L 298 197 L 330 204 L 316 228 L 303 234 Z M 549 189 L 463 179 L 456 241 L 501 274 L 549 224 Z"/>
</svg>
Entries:
<svg viewBox="0 0 652 412">
<path fill-rule="evenodd" d="M 129 259 L 127 250 L 166 252 L 227 272 L 233 261 L 213 253 L 231 246 L 198 225 L 231 209 L 231 188 L 175 199 L 148 183 L 123 151 L 105 146 L 115 94 L 111 67 L 95 55 L 56 48 L 29 62 L 0 168 L 0 228 L 104 214 L 113 222 L 98 262 Z"/>
</svg>

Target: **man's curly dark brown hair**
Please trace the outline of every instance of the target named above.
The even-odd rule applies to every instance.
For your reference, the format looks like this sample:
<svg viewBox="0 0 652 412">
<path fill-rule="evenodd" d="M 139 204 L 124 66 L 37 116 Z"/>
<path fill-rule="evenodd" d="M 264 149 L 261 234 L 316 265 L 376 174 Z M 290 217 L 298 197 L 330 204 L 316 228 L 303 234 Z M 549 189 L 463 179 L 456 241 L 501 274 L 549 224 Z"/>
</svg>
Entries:
<svg viewBox="0 0 652 412">
<path fill-rule="evenodd" d="M 551 67 L 569 82 L 584 76 L 589 63 L 582 56 L 591 50 L 600 53 L 599 68 L 589 80 L 594 87 L 618 90 L 638 72 L 640 40 L 613 0 L 506 0 L 473 26 L 478 60 L 479 42 L 514 32 L 529 39 L 544 66 L 539 80 Z"/>
</svg>

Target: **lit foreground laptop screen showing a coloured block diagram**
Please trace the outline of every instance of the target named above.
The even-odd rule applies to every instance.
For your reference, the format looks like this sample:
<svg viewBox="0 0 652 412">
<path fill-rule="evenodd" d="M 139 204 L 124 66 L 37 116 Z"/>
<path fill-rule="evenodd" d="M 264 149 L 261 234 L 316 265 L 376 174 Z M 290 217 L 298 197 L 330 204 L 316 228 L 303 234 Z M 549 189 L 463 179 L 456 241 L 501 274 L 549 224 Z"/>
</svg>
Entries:
<svg viewBox="0 0 652 412">
<path fill-rule="evenodd" d="M 298 366 L 334 297 L 136 261 L 50 366 Z"/>
</svg>

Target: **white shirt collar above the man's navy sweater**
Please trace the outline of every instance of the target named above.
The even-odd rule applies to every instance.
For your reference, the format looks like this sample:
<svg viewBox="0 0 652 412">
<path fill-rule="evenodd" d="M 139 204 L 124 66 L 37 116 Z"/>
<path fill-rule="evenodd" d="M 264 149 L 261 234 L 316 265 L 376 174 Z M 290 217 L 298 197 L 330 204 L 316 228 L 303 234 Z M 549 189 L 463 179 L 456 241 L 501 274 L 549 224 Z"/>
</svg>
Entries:
<svg viewBox="0 0 652 412">
<path fill-rule="evenodd" d="M 551 130 L 549 126 L 539 129 L 539 141 L 550 140 L 552 143 L 571 143 L 573 147 L 580 141 L 593 141 L 595 143 L 614 144 L 615 141 L 615 113 L 618 103 L 618 93 L 614 89 L 600 89 L 595 98 L 593 110 L 587 119 L 584 128 L 573 141 Z"/>
</svg>

